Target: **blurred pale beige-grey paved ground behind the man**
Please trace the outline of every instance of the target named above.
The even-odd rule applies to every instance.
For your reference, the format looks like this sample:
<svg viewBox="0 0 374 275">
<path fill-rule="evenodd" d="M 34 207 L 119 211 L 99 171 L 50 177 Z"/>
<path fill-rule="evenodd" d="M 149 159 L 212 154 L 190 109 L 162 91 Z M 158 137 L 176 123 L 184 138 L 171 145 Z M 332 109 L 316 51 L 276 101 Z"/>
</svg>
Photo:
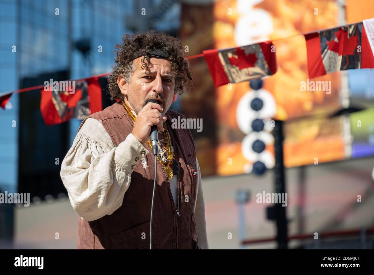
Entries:
<svg viewBox="0 0 374 275">
<path fill-rule="evenodd" d="M 286 170 L 289 234 L 374 226 L 374 182 L 371 172 L 374 158 L 312 165 L 305 168 L 306 196 L 301 210 L 299 168 Z M 275 226 L 266 219 L 267 204 L 257 204 L 256 194 L 273 192 L 273 171 L 263 177 L 237 175 L 203 178 L 209 247 L 237 249 L 238 207 L 235 192 L 251 192 L 245 205 L 246 238 L 271 238 Z M 357 196 L 362 202 L 357 202 Z M 300 217 L 303 217 L 301 219 Z M 43 202 L 15 208 L 14 248 L 76 248 L 78 216 L 68 200 Z M 303 220 L 303 222 L 302 222 Z M 58 233 L 59 239 L 56 239 Z M 228 234 L 232 233 L 232 239 Z M 297 243 L 292 242 L 291 247 Z M 247 248 L 274 248 L 275 244 Z"/>
</svg>

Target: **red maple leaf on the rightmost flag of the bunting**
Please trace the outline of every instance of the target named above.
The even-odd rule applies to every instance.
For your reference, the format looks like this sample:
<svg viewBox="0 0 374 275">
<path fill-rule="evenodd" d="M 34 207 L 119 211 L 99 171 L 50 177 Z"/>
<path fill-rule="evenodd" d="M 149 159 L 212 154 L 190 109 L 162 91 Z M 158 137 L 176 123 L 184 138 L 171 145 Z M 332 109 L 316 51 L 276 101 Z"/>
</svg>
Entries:
<svg viewBox="0 0 374 275">
<path fill-rule="evenodd" d="M 351 36 L 348 38 L 348 32 L 343 29 L 334 33 L 338 42 L 334 39 L 327 42 L 330 51 L 337 52 L 338 55 L 353 55 L 353 52 L 358 46 L 358 36 Z"/>
</svg>

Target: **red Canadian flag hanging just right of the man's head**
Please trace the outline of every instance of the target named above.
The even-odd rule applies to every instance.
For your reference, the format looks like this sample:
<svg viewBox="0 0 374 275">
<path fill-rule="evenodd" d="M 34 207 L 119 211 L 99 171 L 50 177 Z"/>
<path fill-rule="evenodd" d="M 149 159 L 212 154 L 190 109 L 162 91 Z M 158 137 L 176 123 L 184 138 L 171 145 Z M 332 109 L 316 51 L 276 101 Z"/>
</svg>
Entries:
<svg viewBox="0 0 374 275">
<path fill-rule="evenodd" d="M 270 41 L 203 54 L 215 87 L 271 76 L 277 71 L 275 46 Z"/>
</svg>

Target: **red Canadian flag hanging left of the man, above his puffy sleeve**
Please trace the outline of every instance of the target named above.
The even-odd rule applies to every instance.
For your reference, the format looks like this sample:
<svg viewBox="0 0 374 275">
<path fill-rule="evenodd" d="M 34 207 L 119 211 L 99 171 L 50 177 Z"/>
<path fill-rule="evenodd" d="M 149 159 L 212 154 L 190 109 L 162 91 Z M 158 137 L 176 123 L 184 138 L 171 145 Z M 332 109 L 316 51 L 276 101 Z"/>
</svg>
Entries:
<svg viewBox="0 0 374 275">
<path fill-rule="evenodd" d="M 50 83 L 40 89 L 40 111 L 46 125 L 62 123 L 72 118 L 84 119 L 102 110 L 98 77 L 63 82 L 53 85 Z M 52 92 L 50 86 L 53 87 Z"/>
</svg>

